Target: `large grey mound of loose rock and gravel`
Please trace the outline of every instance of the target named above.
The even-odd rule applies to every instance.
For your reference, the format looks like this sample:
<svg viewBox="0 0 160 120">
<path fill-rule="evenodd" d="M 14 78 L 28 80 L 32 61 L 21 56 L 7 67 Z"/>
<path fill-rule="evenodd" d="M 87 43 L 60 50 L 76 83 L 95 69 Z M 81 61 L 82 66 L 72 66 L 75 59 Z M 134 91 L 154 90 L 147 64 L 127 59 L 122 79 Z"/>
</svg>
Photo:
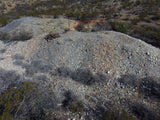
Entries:
<svg viewBox="0 0 160 120">
<path fill-rule="evenodd" d="M 16 74 L 15 80 L 40 82 L 54 96 L 53 118 L 103 119 L 112 105 L 137 119 L 158 120 L 160 49 L 114 31 L 64 32 L 74 23 L 28 17 L 0 28 L 1 90 Z M 45 40 L 49 32 L 60 37 Z M 69 112 L 72 103 L 82 104 L 83 112 Z M 133 106 L 146 107 L 137 114 Z"/>
</svg>

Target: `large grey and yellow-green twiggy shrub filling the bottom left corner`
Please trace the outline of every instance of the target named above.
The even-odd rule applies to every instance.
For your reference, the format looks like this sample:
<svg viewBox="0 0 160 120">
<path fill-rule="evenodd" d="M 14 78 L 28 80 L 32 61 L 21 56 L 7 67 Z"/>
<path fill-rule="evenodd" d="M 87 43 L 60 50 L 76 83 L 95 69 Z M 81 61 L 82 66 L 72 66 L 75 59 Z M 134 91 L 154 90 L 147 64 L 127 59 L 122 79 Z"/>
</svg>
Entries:
<svg viewBox="0 0 160 120">
<path fill-rule="evenodd" d="M 35 82 L 20 82 L 0 94 L 0 120 L 46 120 L 51 105 L 47 92 Z"/>
</svg>

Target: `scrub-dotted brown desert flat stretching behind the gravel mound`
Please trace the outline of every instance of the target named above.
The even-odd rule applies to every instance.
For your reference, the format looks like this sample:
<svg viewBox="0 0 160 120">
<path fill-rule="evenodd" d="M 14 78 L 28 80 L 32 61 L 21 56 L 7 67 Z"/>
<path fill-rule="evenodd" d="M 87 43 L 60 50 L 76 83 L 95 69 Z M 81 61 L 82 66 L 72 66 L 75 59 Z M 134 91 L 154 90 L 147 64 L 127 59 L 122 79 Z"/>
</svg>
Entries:
<svg viewBox="0 0 160 120">
<path fill-rule="evenodd" d="M 1 26 L 24 16 L 105 18 L 112 30 L 160 47 L 159 0 L 3 0 L 0 6 Z"/>
</svg>

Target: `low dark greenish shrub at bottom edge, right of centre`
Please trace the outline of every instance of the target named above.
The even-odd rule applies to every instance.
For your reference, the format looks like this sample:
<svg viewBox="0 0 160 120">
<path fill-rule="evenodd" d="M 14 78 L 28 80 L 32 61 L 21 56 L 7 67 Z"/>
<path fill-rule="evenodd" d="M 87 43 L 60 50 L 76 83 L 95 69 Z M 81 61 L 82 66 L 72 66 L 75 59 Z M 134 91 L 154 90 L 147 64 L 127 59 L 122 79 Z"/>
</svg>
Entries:
<svg viewBox="0 0 160 120">
<path fill-rule="evenodd" d="M 102 120 L 136 120 L 136 117 L 123 110 L 107 110 L 104 112 Z"/>
</svg>

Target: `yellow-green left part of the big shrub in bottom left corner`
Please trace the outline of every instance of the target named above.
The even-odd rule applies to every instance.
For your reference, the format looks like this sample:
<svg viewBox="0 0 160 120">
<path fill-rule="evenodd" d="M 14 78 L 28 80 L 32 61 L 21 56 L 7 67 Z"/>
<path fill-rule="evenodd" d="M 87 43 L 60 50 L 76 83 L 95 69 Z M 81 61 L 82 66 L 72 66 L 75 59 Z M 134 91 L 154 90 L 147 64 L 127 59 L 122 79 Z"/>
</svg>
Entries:
<svg viewBox="0 0 160 120">
<path fill-rule="evenodd" d="M 36 83 L 25 82 L 20 88 L 11 87 L 0 96 L 0 120 L 16 120 L 17 112 L 24 100 L 31 96 Z"/>
</svg>

